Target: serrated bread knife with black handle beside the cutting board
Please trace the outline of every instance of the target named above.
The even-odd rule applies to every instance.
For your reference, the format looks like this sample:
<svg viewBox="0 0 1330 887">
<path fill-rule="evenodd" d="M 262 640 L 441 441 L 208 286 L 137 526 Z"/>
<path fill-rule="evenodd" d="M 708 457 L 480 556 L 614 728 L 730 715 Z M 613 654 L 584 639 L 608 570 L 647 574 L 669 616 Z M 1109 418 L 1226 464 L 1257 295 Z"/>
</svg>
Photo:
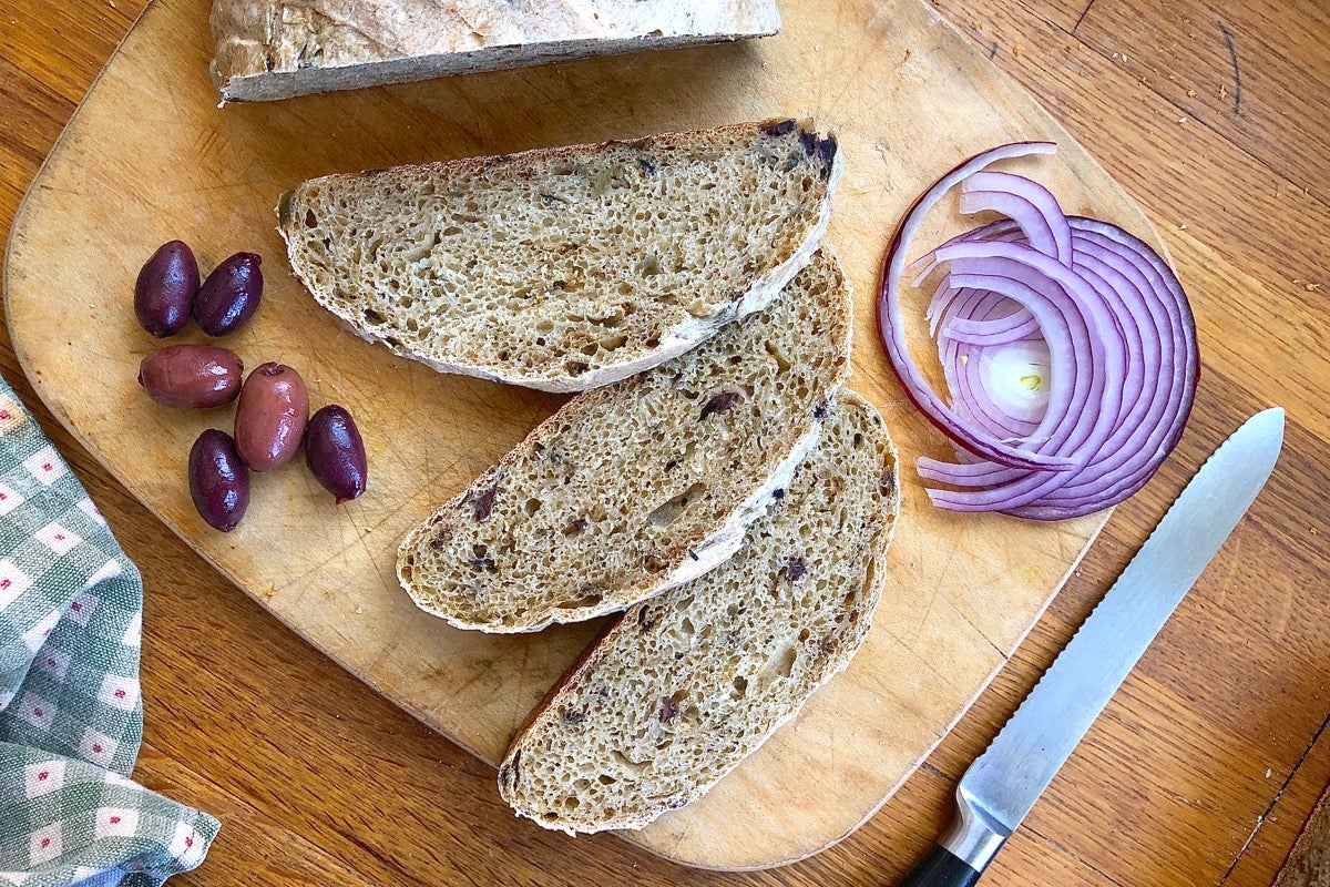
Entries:
<svg viewBox="0 0 1330 887">
<path fill-rule="evenodd" d="M 951 831 L 899 887 L 968 887 L 1196 584 L 1274 469 L 1283 410 L 1252 416 L 1206 460 L 1127 569 L 956 786 Z"/>
</svg>

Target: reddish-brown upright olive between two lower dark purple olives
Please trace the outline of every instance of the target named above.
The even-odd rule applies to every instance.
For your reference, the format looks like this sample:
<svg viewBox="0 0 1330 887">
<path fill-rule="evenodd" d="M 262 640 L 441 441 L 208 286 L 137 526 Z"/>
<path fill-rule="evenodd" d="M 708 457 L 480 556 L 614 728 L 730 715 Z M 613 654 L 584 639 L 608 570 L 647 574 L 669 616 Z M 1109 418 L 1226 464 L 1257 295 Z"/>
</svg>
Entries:
<svg viewBox="0 0 1330 887">
<path fill-rule="evenodd" d="M 295 457 L 310 422 L 310 395 L 301 374 L 281 363 L 254 368 L 235 406 L 235 449 L 254 471 Z"/>
</svg>

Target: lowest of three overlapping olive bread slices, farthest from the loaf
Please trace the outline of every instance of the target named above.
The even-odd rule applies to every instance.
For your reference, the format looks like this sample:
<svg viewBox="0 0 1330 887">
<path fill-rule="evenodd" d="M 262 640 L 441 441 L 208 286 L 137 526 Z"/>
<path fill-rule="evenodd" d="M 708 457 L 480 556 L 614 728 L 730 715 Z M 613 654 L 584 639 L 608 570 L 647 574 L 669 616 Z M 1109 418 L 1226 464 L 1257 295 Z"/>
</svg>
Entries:
<svg viewBox="0 0 1330 887">
<path fill-rule="evenodd" d="M 624 613 L 537 706 L 499 767 L 504 799 L 575 834 L 640 828 L 705 794 L 859 649 L 896 489 L 882 418 L 842 392 L 743 549 Z"/>
</svg>

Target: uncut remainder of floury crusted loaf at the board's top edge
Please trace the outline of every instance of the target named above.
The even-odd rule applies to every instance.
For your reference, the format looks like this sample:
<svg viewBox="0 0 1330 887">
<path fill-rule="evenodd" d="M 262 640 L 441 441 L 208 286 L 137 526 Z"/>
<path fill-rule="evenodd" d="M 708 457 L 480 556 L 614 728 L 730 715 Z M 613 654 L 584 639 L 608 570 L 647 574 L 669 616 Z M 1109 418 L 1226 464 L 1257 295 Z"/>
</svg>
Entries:
<svg viewBox="0 0 1330 887">
<path fill-rule="evenodd" d="M 773 35 L 775 0 L 214 0 L 222 101 Z"/>
</svg>

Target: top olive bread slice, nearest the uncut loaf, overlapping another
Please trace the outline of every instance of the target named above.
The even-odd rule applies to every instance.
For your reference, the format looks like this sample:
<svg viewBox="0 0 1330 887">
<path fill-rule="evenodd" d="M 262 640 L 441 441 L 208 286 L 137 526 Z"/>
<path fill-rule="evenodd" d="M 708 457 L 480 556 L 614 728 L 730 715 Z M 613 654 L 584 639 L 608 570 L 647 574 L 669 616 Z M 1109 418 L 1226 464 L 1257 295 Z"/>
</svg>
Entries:
<svg viewBox="0 0 1330 887">
<path fill-rule="evenodd" d="M 310 180 L 295 275 L 356 334 L 440 372 L 584 391 L 766 306 L 817 249 L 833 137 L 738 124 Z"/>
</svg>

